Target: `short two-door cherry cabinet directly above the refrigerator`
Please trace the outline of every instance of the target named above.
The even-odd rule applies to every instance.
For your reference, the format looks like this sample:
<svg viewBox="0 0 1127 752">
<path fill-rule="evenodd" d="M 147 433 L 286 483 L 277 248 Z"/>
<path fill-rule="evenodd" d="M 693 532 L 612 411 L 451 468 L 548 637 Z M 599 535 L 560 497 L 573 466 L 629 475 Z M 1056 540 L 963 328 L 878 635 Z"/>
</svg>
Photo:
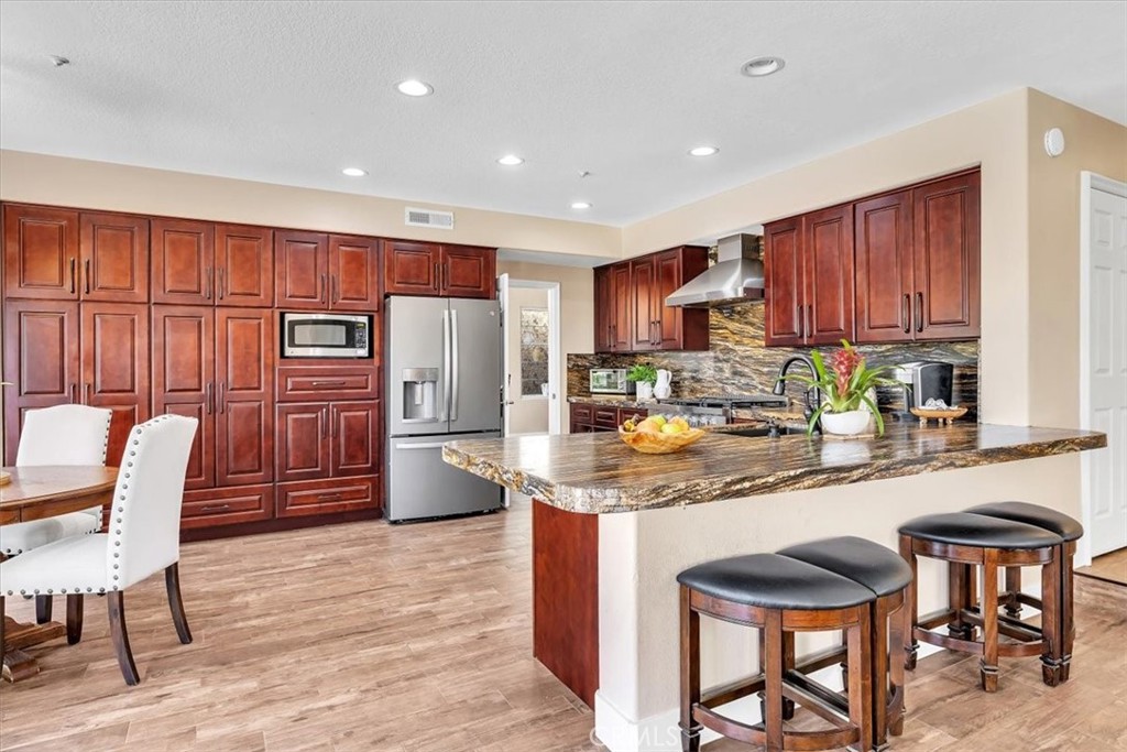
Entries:
<svg viewBox="0 0 1127 752">
<path fill-rule="evenodd" d="M 496 295 L 497 254 L 492 248 L 384 240 L 383 264 L 388 294 Z"/>
</svg>

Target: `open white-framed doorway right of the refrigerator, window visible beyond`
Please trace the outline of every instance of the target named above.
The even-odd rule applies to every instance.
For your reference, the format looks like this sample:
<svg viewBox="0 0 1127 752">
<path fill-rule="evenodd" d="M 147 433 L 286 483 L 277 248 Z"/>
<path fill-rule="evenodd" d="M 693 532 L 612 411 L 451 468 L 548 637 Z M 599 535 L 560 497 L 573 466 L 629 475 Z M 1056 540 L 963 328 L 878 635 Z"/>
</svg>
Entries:
<svg viewBox="0 0 1127 752">
<path fill-rule="evenodd" d="M 505 311 L 505 435 L 560 433 L 560 285 L 498 277 Z"/>
</svg>

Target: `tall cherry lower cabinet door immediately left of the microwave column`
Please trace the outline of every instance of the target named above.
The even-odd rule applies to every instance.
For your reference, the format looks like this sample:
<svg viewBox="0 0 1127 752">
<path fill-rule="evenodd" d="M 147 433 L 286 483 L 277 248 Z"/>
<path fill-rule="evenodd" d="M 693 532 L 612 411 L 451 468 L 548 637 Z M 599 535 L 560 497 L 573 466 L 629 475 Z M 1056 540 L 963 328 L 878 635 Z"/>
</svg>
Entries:
<svg viewBox="0 0 1127 752">
<path fill-rule="evenodd" d="M 274 479 L 274 313 L 215 311 L 216 441 L 220 486 Z"/>
</svg>

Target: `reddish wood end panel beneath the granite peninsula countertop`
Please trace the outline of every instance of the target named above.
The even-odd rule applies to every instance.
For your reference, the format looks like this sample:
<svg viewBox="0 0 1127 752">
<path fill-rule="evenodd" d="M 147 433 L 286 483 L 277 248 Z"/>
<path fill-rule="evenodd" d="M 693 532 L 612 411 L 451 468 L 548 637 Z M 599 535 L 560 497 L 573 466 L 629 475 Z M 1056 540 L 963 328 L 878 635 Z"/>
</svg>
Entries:
<svg viewBox="0 0 1127 752">
<path fill-rule="evenodd" d="M 588 707 L 598 689 L 598 515 L 532 504 L 532 654 Z"/>
</svg>

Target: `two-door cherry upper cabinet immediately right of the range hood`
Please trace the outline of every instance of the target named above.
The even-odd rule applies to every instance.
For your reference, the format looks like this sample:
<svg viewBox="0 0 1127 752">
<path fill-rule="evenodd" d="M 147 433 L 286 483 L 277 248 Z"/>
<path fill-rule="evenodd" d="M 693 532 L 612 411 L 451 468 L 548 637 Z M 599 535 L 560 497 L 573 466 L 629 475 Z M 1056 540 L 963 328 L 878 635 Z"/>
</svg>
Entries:
<svg viewBox="0 0 1127 752">
<path fill-rule="evenodd" d="M 765 342 L 825 345 L 853 337 L 853 206 L 764 228 Z"/>
</svg>

